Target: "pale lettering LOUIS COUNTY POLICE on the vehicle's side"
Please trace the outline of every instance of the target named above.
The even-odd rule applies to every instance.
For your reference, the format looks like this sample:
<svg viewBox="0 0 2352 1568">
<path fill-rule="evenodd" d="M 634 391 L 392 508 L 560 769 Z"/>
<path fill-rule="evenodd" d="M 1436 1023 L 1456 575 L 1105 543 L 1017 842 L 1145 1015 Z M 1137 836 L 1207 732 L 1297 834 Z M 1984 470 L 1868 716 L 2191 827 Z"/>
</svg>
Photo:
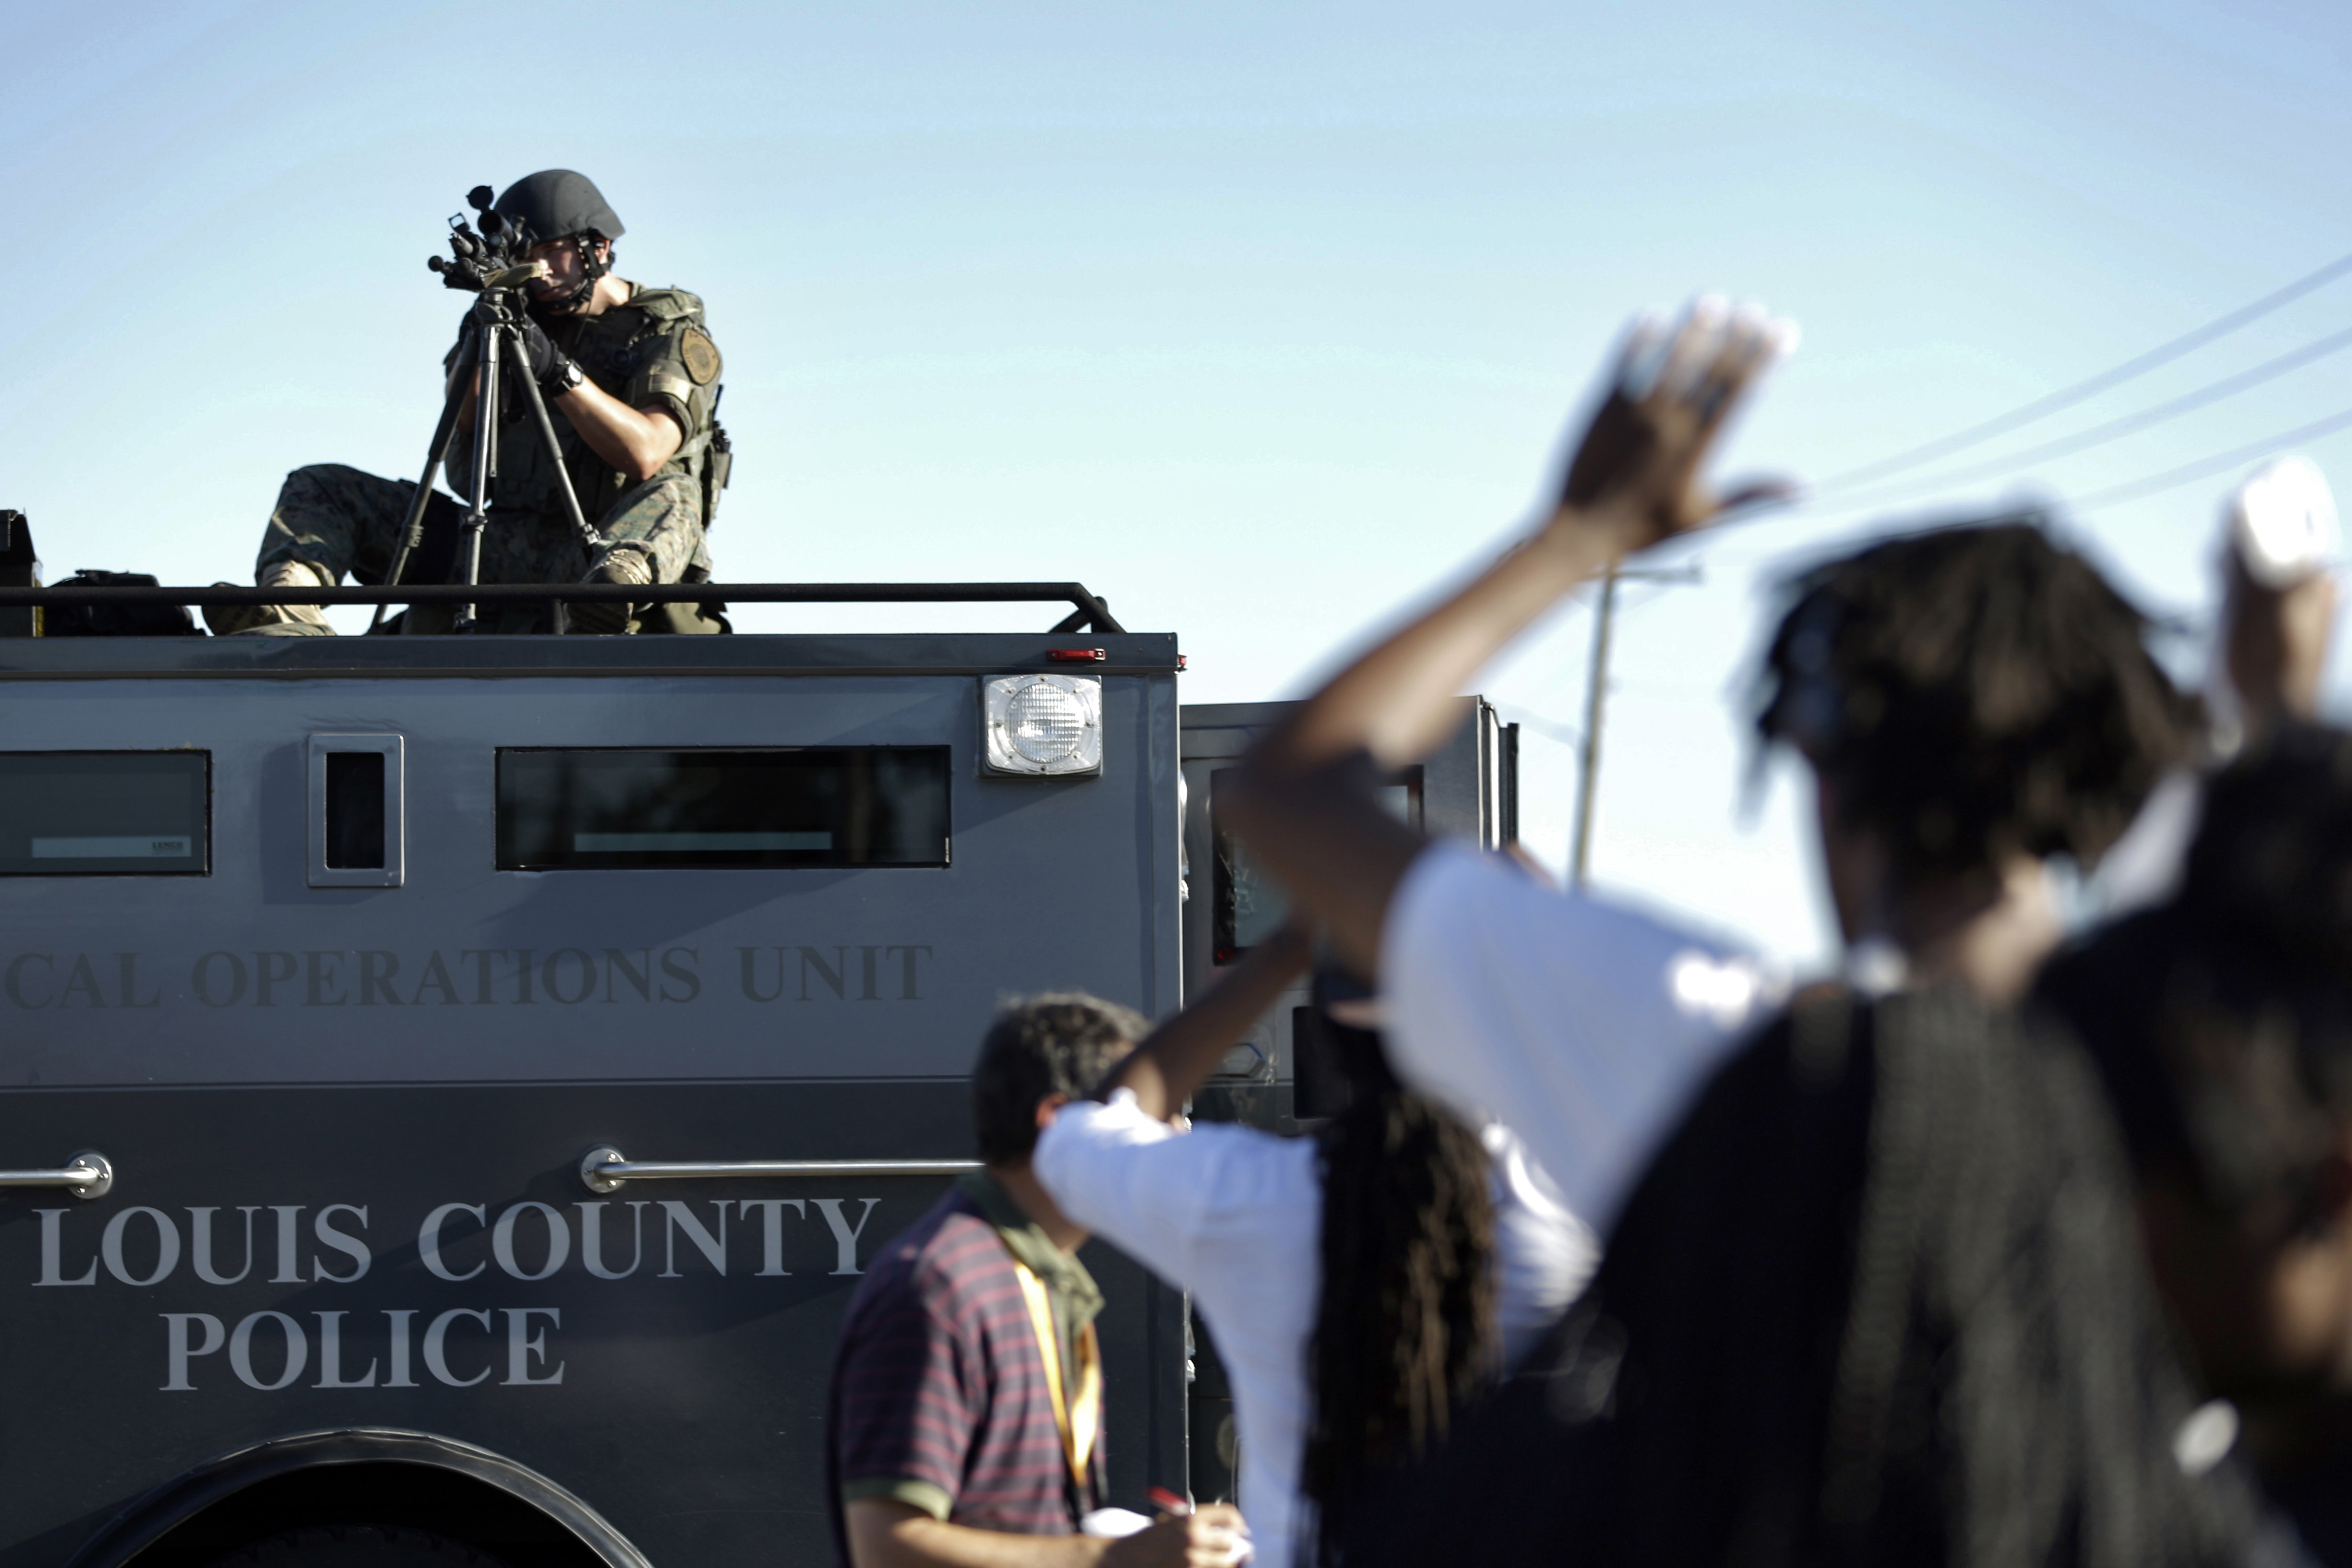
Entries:
<svg viewBox="0 0 2352 1568">
<path fill-rule="evenodd" d="M 757 1272 L 739 1267 L 753 1279 L 790 1276 L 788 1253 L 802 1265 L 802 1272 L 823 1272 L 830 1265 L 830 1274 L 856 1274 L 858 1237 L 866 1232 L 875 1204 L 880 1199 L 706 1199 L 701 1204 L 630 1199 L 572 1204 L 576 1211 L 572 1215 L 536 1201 L 510 1204 L 496 1213 L 485 1204 L 442 1204 L 414 1232 L 414 1262 L 421 1262 L 435 1279 L 482 1281 L 485 1286 L 496 1284 L 501 1274 L 520 1281 L 546 1281 L 564 1272 L 581 1279 L 630 1279 L 656 1255 L 661 1272 L 649 1274 L 652 1279 L 684 1279 L 687 1272 L 724 1276 L 729 1269 L 727 1220 L 734 1218 L 739 1220 L 734 1241 L 741 1248 L 734 1262 L 748 1265 L 755 1255 Z M 856 1213 L 849 1213 L 847 1206 L 854 1206 Z M 179 1211 L 186 1215 L 186 1227 L 172 1213 L 146 1206 L 122 1208 L 103 1225 L 87 1211 L 40 1208 L 35 1211 L 40 1215 L 40 1276 L 33 1284 L 96 1288 L 101 1279 L 111 1279 L 146 1291 L 165 1284 L 186 1286 L 188 1281 L 235 1286 L 249 1276 L 254 1284 L 273 1286 L 355 1286 L 367 1279 L 376 1262 L 367 1237 L 367 1206 L 327 1204 L 313 1211 L 310 1222 L 303 1225 L 306 1208 L 303 1204 L 238 1206 L 242 1237 L 233 1244 L 221 1237 L 219 1246 L 214 1237 L 219 1206 Z M 626 1218 L 621 1213 L 607 1215 L 607 1208 L 626 1211 Z M 647 1248 L 647 1208 L 659 1211 L 661 1241 L 654 1255 Z M 823 1220 L 823 1234 L 802 1229 L 809 1208 L 816 1208 L 816 1218 Z M 793 1211 L 793 1227 L 786 1227 L 786 1211 Z M 270 1218 L 256 1227 L 256 1215 L 263 1213 Z M 238 1222 L 226 1222 L 221 1229 L 233 1232 Z M 628 1265 L 616 1267 L 623 1229 L 628 1232 Z M 485 1241 L 487 1258 L 480 1255 Z M 230 1246 L 238 1260 L 233 1274 L 223 1272 Z M 402 1251 L 407 1248 L 402 1246 Z M 694 1262 L 696 1258 L 701 1262 Z M 183 1260 L 186 1274 L 181 1272 Z M 261 1262 L 273 1262 L 275 1272 L 254 1274 Z M 400 1260 L 400 1265 L 407 1262 L 407 1258 Z M 680 1262 L 687 1269 L 680 1269 Z M 245 1387 L 263 1392 L 294 1387 L 306 1371 L 315 1373 L 315 1380 L 306 1385 L 313 1389 L 426 1387 L 416 1380 L 419 1371 L 435 1382 L 463 1389 L 489 1380 L 501 1366 L 506 1375 L 499 1387 L 546 1387 L 564 1380 L 564 1363 L 548 1347 L 548 1333 L 562 1328 L 562 1307 L 390 1307 L 360 1312 L 360 1319 L 348 1328 L 346 1319 L 353 1316 L 353 1309 L 301 1314 L 263 1309 L 249 1312 L 235 1324 L 212 1312 L 160 1312 L 158 1316 L 165 1331 L 167 1375 L 162 1389 L 169 1394 L 193 1394 L 202 1368 L 221 1366 L 207 1356 L 223 1352 L 228 1373 Z M 423 1321 L 419 1324 L 419 1319 Z M 503 1333 L 499 1319 L 503 1319 Z M 381 1366 L 374 1354 L 360 1363 L 360 1352 L 346 1352 L 346 1335 L 365 1340 L 365 1349 L 381 1347 Z"/>
</svg>

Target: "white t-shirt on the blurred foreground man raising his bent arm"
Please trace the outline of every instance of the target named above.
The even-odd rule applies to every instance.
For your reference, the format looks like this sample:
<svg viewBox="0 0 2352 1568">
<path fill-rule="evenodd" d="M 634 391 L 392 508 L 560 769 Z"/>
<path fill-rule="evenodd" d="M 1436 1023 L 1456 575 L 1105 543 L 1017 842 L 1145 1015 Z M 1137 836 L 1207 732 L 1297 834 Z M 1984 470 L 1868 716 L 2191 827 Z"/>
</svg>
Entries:
<svg viewBox="0 0 2352 1568">
<path fill-rule="evenodd" d="M 1381 931 L 1397 1077 L 1496 1112 L 1606 1234 L 1686 1100 L 1788 997 L 1757 959 L 1461 842 L 1414 860 Z"/>
</svg>

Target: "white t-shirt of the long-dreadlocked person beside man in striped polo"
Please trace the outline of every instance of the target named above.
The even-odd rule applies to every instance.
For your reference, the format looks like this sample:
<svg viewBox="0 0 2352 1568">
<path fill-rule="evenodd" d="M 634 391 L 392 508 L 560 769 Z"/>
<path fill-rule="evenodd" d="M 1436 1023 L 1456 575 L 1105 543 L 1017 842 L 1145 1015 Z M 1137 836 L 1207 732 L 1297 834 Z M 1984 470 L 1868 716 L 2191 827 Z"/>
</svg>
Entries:
<svg viewBox="0 0 2352 1568">
<path fill-rule="evenodd" d="M 1496 1316 L 1517 1361 L 1592 1274 L 1595 1244 L 1505 1128 L 1482 1138 L 1496 1178 Z M 1030 1168 L 1065 1215 L 1192 1293 L 1232 1380 L 1242 1516 L 1258 1561 L 1287 1568 L 1322 1295 L 1315 1140 L 1223 1121 L 1178 1133 L 1122 1088 L 1108 1105 L 1065 1105 Z"/>
</svg>

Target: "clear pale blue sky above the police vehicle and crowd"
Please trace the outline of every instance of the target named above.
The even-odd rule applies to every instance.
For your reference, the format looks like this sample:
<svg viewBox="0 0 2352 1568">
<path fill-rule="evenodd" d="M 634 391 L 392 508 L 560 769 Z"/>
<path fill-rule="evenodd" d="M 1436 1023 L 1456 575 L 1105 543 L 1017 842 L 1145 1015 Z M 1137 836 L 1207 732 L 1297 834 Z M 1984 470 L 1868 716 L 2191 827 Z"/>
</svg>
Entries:
<svg viewBox="0 0 2352 1568">
<path fill-rule="evenodd" d="M 1522 527 L 1618 322 L 1696 289 L 1804 350 L 1731 468 L 1830 475 L 2352 252 L 2352 24 L 2234 5 L 122 5 L 0 12 L 0 505 L 49 576 L 247 581 L 278 480 L 414 473 L 473 183 L 567 165 L 708 299 L 722 578 L 1063 578 L 1188 701 L 1296 693 Z M 2352 280 L 2020 433 L 2284 353 Z M 2352 355 L 2056 461 L 2089 494 L 2352 404 Z M 2305 447 L 2352 489 L 2352 437 Z M 1966 491 L 1990 501 L 2009 487 Z M 2206 614 L 2225 480 L 2084 512 Z M 1806 512 L 1628 595 L 1604 884 L 1825 950 L 1731 703 Z M 1049 614 L 1049 611 L 1044 611 Z M 746 630 L 1037 625 L 764 609 Z M 1585 611 L 1484 689 L 1562 858 Z M 2194 651 L 2190 651 L 2194 658 Z M 2343 682 L 2338 682 L 2343 689 Z"/>
</svg>

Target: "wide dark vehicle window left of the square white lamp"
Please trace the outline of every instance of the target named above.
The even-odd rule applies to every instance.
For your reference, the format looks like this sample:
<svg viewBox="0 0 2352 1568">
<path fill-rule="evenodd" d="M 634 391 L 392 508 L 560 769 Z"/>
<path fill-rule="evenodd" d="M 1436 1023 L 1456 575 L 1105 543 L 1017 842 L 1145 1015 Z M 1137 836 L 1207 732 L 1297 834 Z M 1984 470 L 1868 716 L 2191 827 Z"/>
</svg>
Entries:
<svg viewBox="0 0 2352 1568">
<path fill-rule="evenodd" d="M 499 752 L 499 870 L 946 863 L 946 745 Z"/>
</svg>

